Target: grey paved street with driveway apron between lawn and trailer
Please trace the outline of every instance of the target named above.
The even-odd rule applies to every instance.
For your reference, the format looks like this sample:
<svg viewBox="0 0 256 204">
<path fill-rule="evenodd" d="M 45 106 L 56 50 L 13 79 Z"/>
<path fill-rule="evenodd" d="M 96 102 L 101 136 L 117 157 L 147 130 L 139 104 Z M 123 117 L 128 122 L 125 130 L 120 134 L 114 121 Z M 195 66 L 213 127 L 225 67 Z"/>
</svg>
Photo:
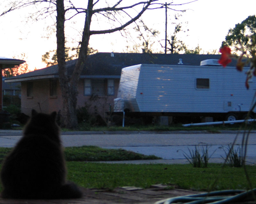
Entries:
<svg viewBox="0 0 256 204">
<path fill-rule="evenodd" d="M 97 132 L 96 132 L 97 133 Z M 3 133 L 0 132 L 0 146 L 12 147 L 20 139 L 21 131 Z M 190 156 L 189 150 L 195 151 L 195 145 L 206 149 L 208 145 L 209 156 L 212 155 L 213 162 L 223 162 L 225 151 L 236 137 L 236 131 L 225 133 L 207 132 L 168 132 L 165 134 L 143 132 L 143 133 L 117 133 L 117 134 L 88 134 L 88 132 L 64 132 L 61 135 L 62 144 L 67 146 L 95 145 L 104 148 L 122 148 L 146 155 L 156 155 L 167 163 L 187 163 L 184 153 Z M 243 134 L 236 139 L 235 150 L 242 144 Z M 250 134 L 247 145 L 247 161 L 256 163 L 256 132 Z M 240 146 L 241 147 L 241 146 Z M 188 150 L 189 149 L 189 150 Z M 152 161 L 153 163 L 163 161 Z M 127 162 L 129 163 L 129 162 Z M 140 163 L 140 161 L 138 161 Z"/>
</svg>

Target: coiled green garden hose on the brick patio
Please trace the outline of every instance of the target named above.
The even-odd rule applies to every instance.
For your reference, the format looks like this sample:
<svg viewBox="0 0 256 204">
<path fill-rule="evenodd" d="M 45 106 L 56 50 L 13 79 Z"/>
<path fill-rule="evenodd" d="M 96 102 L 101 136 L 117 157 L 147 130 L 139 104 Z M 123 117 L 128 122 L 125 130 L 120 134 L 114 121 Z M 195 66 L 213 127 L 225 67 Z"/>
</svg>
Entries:
<svg viewBox="0 0 256 204">
<path fill-rule="evenodd" d="M 238 193 L 238 194 L 237 194 Z M 245 190 L 224 190 L 213 191 L 209 193 L 199 193 L 187 196 L 178 196 L 174 198 L 168 198 L 165 200 L 157 201 L 155 204 L 171 204 L 171 203 L 183 203 L 183 204 L 224 204 L 234 203 L 241 201 L 251 201 L 253 195 L 256 193 L 256 188 L 250 191 Z M 236 195 L 233 195 L 236 194 Z"/>
</svg>

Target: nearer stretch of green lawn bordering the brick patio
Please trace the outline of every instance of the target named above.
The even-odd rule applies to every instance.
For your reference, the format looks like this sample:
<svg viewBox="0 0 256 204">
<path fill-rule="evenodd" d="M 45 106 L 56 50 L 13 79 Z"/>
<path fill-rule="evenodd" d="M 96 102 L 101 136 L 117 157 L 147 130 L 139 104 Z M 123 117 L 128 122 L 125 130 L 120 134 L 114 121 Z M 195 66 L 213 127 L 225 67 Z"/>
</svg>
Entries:
<svg viewBox="0 0 256 204">
<path fill-rule="evenodd" d="M 189 164 L 137 165 L 68 161 L 67 168 L 68 180 L 85 188 L 111 190 L 118 186 L 148 188 L 151 184 L 168 184 L 182 189 L 202 191 L 207 189 L 249 189 L 243 168 L 226 166 L 222 169 L 221 164 L 209 164 L 208 168 L 193 168 Z M 247 170 L 255 188 L 256 167 L 247 166 Z M 218 181 L 211 188 L 216 178 Z"/>
</svg>

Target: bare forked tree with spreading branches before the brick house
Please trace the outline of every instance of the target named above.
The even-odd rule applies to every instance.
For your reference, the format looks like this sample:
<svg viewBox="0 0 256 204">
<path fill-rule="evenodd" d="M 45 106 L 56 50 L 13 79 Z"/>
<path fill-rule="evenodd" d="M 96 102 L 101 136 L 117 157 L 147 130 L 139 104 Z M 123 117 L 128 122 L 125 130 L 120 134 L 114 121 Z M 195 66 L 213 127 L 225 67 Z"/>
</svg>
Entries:
<svg viewBox="0 0 256 204">
<path fill-rule="evenodd" d="M 116 0 L 108 3 L 101 0 L 88 0 L 87 7 L 83 8 L 76 6 L 75 1 L 72 0 L 27 0 L 27 1 L 12 1 L 9 7 L 2 12 L 1 15 L 10 11 L 27 7 L 30 5 L 45 6 L 38 11 L 36 20 L 40 17 L 46 18 L 48 16 L 56 15 L 56 37 L 57 37 L 57 61 L 59 67 L 59 81 L 63 98 L 63 125 L 67 128 L 77 126 L 76 118 L 76 104 L 77 104 L 77 85 L 80 74 L 84 68 L 84 63 L 87 58 L 87 49 L 91 35 L 113 33 L 121 31 L 125 27 L 137 21 L 146 10 L 153 10 L 157 8 L 164 8 L 164 6 L 175 6 L 182 4 L 173 4 L 172 1 L 166 0 Z M 197 0 L 194 0 L 197 1 Z M 194 2 L 190 1 L 190 2 Z M 185 4 L 188 4 L 187 2 Z M 77 3 L 77 2 L 76 2 Z M 81 3 L 82 4 L 82 3 Z M 138 12 L 134 12 L 134 11 Z M 64 25 L 67 20 L 71 20 L 77 15 L 85 14 L 84 28 L 82 33 L 82 40 L 79 48 L 79 55 L 76 61 L 76 66 L 72 75 L 68 76 L 65 66 L 65 29 Z M 92 18 L 99 20 L 105 19 L 109 27 L 102 30 L 91 30 Z M 97 21 L 93 21 L 97 22 Z"/>
</svg>

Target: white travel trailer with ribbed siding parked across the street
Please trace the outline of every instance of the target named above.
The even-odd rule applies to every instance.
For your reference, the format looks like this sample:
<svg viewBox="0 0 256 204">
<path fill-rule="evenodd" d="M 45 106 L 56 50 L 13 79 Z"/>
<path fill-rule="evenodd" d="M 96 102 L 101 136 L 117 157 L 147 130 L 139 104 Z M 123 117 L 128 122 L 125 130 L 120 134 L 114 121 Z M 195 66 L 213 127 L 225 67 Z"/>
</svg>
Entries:
<svg viewBox="0 0 256 204">
<path fill-rule="evenodd" d="M 140 64 L 122 69 L 114 112 L 132 114 L 245 117 L 255 95 L 255 78 L 245 87 L 246 71 L 222 67 L 218 60 L 200 66 Z M 253 113 L 252 113 L 253 114 Z"/>
</svg>

